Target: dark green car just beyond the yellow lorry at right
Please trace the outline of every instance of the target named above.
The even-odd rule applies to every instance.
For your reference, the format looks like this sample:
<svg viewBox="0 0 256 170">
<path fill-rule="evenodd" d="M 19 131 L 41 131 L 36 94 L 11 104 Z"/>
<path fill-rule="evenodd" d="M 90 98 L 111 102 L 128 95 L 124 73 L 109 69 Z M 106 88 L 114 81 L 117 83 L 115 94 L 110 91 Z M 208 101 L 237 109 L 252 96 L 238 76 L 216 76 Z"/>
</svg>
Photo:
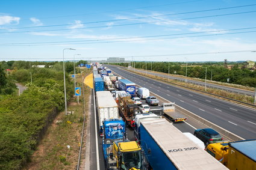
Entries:
<svg viewBox="0 0 256 170">
<path fill-rule="evenodd" d="M 222 136 L 213 129 L 196 129 L 194 135 L 199 138 L 207 146 L 215 142 L 223 141 Z"/>
</svg>

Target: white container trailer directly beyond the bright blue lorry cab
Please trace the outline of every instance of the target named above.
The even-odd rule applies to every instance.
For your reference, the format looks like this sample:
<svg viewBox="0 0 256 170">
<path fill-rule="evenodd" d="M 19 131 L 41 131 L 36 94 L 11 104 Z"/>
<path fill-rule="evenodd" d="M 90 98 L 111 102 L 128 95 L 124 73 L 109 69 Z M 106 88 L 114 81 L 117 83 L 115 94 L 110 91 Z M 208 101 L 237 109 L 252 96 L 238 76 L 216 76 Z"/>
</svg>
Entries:
<svg viewBox="0 0 256 170">
<path fill-rule="evenodd" d="M 110 91 L 97 91 L 96 102 L 99 117 L 99 133 L 102 136 L 103 121 L 119 118 L 118 106 Z"/>
</svg>

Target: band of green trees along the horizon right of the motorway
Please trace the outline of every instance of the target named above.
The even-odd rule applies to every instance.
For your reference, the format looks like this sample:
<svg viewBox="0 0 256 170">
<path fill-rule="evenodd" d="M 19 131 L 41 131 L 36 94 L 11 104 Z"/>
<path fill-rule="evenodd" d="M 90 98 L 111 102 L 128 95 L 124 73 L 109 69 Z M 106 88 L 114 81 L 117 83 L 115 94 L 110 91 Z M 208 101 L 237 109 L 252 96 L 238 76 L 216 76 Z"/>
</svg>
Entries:
<svg viewBox="0 0 256 170">
<path fill-rule="evenodd" d="M 109 63 L 113 65 L 122 65 L 128 67 L 141 68 L 162 73 L 178 74 L 188 77 L 205 79 L 207 69 L 207 79 L 218 82 L 229 82 L 248 87 L 256 87 L 256 71 L 248 68 L 241 68 L 236 62 L 231 69 L 223 67 L 223 62 L 205 62 L 205 63 L 186 63 L 184 62 L 131 62 L 131 63 Z M 197 66 L 196 66 L 197 65 Z M 207 68 L 206 68 L 207 67 Z"/>
</svg>

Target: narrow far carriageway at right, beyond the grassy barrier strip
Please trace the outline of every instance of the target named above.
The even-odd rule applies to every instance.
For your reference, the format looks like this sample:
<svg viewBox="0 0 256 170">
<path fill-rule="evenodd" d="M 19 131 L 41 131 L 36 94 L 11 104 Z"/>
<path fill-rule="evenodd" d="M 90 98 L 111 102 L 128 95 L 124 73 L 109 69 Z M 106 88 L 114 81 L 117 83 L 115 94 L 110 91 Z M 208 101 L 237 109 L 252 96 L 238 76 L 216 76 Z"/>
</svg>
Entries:
<svg viewBox="0 0 256 170">
<path fill-rule="evenodd" d="M 122 68 L 125 68 L 125 67 L 122 67 Z M 145 73 L 145 71 L 139 70 L 139 69 L 130 68 L 130 70 L 135 70 L 135 71 L 138 71 L 140 73 Z M 147 70 L 147 74 L 151 74 L 151 75 L 159 76 L 159 77 L 164 77 L 164 78 L 169 78 L 169 79 L 173 79 L 173 80 L 179 80 L 179 81 L 183 81 L 183 82 L 187 81 L 188 83 L 193 83 L 193 84 L 196 84 L 196 85 L 200 85 L 202 87 L 205 86 L 205 82 L 186 79 L 185 77 L 183 78 L 183 77 L 169 76 L 169 75 L 166 75 L 166 74 L 155 73 L 155 72 L 151 72 L 151 71 L 148 71 L 148 70 Z M 208 83 L 208 82 L 207 82 L 207 87 L 208 88 L 217 88 L 219 90 L 225 90 L 225 91 L 228 91 L 228 92 L 231 92 L 231 93 L 238 93 L 238 94 L 246 94 L 248 96 L 255 96 L 254 91 L 242 90 L 242 89 L 232 88 L 232 87 L 225 87 L 223 85 L 216 85 L 216 84 Z"/>
</svg>

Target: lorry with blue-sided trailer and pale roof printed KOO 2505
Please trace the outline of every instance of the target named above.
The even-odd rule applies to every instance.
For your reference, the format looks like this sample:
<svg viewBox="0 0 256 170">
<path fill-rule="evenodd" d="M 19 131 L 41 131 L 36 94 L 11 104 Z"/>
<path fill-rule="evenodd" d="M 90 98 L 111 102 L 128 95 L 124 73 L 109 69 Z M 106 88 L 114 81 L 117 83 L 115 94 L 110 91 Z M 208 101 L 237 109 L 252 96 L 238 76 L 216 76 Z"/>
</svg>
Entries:
<svg viewBox="0 0 256 170">
<path fill-rule="evenodd" d="M 164 118 L 140 120 L 138 133 L 149 169 L 227 169 Z"/>
</svg>

